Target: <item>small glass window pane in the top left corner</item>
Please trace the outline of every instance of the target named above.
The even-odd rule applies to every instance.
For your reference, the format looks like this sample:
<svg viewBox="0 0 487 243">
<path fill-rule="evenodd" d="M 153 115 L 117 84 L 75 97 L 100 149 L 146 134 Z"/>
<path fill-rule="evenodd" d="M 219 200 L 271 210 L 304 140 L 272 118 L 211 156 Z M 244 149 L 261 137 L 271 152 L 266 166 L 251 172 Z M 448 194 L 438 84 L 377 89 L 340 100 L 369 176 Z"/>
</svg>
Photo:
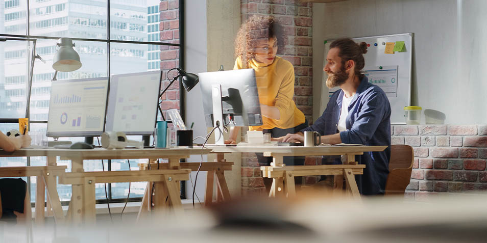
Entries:
<svg viewBox="0 0 487 243">
<path fill-rule="evenodd" d="M 6 0 L 0 4 L 0 33 L 27 35 L 27 1 Z"/>
</svg>

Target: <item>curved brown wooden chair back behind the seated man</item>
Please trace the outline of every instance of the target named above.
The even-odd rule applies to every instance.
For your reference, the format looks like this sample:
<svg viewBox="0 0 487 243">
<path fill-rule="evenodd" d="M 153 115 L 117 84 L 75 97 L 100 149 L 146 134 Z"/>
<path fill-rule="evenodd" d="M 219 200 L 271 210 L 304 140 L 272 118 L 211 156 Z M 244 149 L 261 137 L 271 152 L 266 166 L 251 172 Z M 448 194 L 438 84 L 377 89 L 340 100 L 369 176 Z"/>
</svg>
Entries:
<svg viewBox="0 0 487 243">
<path fill-rule="evenodd" d="M 409 145 L 391 145 L 389 175 L 385 184 L 385 195 L 404 195 L 411 180 L 414 150 Z"/>
</svg>

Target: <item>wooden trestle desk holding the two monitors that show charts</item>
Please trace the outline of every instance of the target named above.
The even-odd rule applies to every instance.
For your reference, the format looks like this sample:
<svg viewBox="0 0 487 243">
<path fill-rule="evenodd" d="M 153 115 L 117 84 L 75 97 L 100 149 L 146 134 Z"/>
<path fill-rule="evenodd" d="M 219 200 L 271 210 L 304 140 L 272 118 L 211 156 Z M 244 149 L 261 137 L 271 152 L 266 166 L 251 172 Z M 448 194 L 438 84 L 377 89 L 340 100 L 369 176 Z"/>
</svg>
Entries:
<svg viewBox="0 0 487 243">
<path fill-rule="evenodd" d="M 179 197 L 179 181 L 188 180 L 190 169 L 180 169 L 179 159 L 188 158 L 192 154 L 207 154 L 210 149 L 201 148 L 174 148 L 174 149 L 121 149 L 107 150 L 96 149 L 25 149 L 12 153 L 0 152 L 4 157 L 46 156 L 49 166 L 56 165 L 56 157 L 71 160 L 71 173 L 60 176 L 60 183 L 72 184 L 72 196 L 69 204 L 67 218 L 75 225 L 81 223 L 94 223 L 95 220 L 95 183 L 155 181 L 155 187 L 159 191 L 167 191 L 168 199 L 175 207 L 176 212 L 181 212 L 181 199 Z M 110 171 L 110 172 L 85 172 L 83 160 L 85 159 L 137 159 L 158 158 L 168 159 L 167 170 L 153 171 Z M 53 180 L 50 183 L 55 183 Z M 37 191 L 39 194 L 40 192 Z M 43 192 L 42 192 L 43 195 Z M 56 192 L 57 195 L 57 192 Z M 155 209 L 162 207 L 163 199 L 156 196 Z M 56 218 L 62 217 L 62 208 L 59 197 L 50 198 Z M 48 206 L 49 208 L 49 206 Z M 58 213 L 56 213 L 58 212 Z M 59 216 L 61 212 L 61 216 Z M 61 218 L 62 219 L 62 218 Z"/>
</svg>

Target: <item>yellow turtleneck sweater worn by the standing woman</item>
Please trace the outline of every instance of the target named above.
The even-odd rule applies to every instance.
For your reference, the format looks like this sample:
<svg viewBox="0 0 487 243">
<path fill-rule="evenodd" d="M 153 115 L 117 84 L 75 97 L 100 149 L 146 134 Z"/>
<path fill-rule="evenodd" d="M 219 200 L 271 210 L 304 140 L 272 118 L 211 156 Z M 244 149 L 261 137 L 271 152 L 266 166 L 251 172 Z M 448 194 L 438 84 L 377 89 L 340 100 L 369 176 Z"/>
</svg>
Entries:
<svg viewBox="0 0 487 243">
<path fill-rule="evenodd" d="M 304 114 L 298 110 L 293 100 L 294 96 L 294 67 L 290 62 L 276 57 L 274 62 L 264 64 L 255 60 L 249 61 L 249 66 L 255 70 L 257 90 L 261 104 L 275 106 L 279 109 L 279 120 L 262 116 L 261 126 L 251 126 L 250 130 L 272 129 L 274 127 L 286 129 L 304 123 Z M 240 58 L 235 60 L 233 69 L 242 69 Z"/>
</svg>

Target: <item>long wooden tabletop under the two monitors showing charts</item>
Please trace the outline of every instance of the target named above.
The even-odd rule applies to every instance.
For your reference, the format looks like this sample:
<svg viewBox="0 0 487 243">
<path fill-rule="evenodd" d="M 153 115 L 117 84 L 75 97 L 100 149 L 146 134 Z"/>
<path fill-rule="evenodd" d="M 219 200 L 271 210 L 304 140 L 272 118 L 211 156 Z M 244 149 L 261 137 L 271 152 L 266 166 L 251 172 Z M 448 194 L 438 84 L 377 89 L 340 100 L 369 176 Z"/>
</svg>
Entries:
<svg viewBox="0 0 487 243">
<path fill-rule="evenodd" d="M 171 148 L 171 149 L 20 149 L 14 152 L 0 150 L 0 157 L 25 156 L 63 156 L 82 159 L 126 159 L 126 158 L 164 158 L 171 156 L 187 156 L 192 154 L 208 154 L 211 149 L 202 148 Z"/>
</svg>

